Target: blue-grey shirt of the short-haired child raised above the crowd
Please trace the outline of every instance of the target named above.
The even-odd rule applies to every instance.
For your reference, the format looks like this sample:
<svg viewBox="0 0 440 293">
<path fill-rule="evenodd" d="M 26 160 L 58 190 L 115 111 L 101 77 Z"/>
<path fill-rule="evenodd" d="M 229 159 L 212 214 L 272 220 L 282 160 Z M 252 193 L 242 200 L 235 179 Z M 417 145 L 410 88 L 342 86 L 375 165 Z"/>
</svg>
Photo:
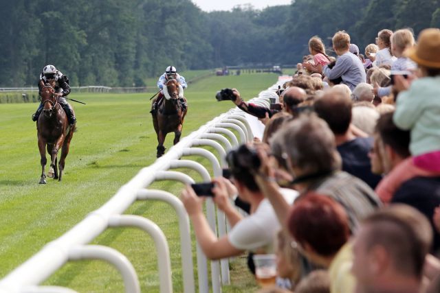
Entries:
<svg viewBox="0 0 440 293">
<path fill-rule="evenodd" d="M 329 78 L 329 80 L 336 80 L 342 78 L 342 83 L 347 84 L 351 91 L 361 82 L 366 82 L 366 74 L 364 65 L 358 56 L 345 52 L 338 56 L 336 65 L 330 69 L 328 65 L 322 68 L 322 72 Z"/>
</svg>

